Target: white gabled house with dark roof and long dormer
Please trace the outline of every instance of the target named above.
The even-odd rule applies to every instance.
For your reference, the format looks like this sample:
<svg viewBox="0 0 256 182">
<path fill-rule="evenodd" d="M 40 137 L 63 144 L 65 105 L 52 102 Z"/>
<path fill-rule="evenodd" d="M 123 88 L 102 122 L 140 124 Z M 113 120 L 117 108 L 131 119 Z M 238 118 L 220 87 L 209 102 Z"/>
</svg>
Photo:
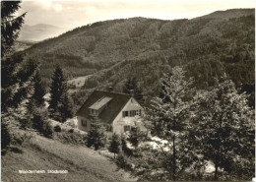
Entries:
<svg viewBox="0 0 256 182">
<path fill-rule="evenodd" d="M 137 126 L 142 115 L 143 107 L 132 95 L 110 91 L 94 91 L 76 114 L 80 130 L 97 123 L 119 135 Z"/>
</svg>

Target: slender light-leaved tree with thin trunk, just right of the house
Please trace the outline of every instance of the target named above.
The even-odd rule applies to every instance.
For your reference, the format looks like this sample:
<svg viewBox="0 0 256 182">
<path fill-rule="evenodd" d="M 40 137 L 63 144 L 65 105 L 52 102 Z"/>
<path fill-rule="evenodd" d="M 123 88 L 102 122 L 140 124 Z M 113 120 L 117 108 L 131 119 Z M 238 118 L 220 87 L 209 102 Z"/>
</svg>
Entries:
<svg viewBox="0 0 256 182">
<path fill-rule="evenodd" d="M 171 74 L 163 74 L 160 96 L 155 97 L 149 108 L 148 116 L 152 123 L 153 135 L 167 140 L 170 152 L 166 154 L 166 169 L 172 180 L 181 178 L 184 168 L 189 166 L 189 153 L 181 150 L 182 136 L 186 130 L 186 119 L 189 118 L 190 102 L 187 97 L 191 91 L 192 79 L 185 78 L 181 67 L 174 67 Z M 171 160 L 169 160 L 171 159 Z M 179 162 L 177 162 L 177 160 Z"/>
</svg>

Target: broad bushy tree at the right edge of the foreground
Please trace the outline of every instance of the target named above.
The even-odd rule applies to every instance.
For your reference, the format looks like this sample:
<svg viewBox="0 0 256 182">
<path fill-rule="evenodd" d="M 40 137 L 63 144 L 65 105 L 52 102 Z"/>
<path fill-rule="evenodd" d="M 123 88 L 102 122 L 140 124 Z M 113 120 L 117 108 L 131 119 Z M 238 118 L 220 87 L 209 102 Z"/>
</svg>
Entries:
<svg viewBox="0 0 256 182">
<path fill-rule="evenodd" d="M 216 181 L 251 179 L 255 170 L 255 113 L 246 94 L 238 94 L 235 85 L 224 79 L 195 100 L 189 136 L 197 149 L 194 152 L 213 161 Z"/>
</svg>

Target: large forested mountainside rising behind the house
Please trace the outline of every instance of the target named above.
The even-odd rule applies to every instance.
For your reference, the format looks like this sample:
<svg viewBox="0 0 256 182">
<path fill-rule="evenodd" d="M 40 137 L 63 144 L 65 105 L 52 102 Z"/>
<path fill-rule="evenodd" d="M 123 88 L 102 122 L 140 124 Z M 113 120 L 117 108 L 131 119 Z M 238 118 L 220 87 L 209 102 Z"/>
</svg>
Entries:
<svg viewBox="0 0 256 182">
<path fill-rule="evenodd" d="M 68 78 L 93 76 L 84 90 L 113 87 L 136 77 L 145 95 L 156 94 L 162 72 L 181 65 L 197 89 L 211 89 L 224 73 L 252 93 L 255 66 L 254 9 L 219 11 L 192 20 L 132 18 L 98 22 L 42 41 L 27 50 L 40 61 L 46 86 L 59 63 Z"/>
</svg>

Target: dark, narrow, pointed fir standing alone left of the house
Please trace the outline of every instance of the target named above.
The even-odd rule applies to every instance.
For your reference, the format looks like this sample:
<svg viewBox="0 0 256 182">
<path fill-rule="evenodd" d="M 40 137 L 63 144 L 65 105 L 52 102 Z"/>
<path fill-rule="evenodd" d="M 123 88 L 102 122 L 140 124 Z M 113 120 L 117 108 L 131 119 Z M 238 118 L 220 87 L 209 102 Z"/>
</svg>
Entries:
<svg viewBox="0 0 256 182">
<path fill-rule="evenodd" d="M 66 119 L 72 117 L 72 110 L 72 104 L 68 96 L 67 81 L 64 78 L 62 69 L 57 65 L 50 86 L 50 117 L 60 122 L 65 122 Z"/>
</svg>

